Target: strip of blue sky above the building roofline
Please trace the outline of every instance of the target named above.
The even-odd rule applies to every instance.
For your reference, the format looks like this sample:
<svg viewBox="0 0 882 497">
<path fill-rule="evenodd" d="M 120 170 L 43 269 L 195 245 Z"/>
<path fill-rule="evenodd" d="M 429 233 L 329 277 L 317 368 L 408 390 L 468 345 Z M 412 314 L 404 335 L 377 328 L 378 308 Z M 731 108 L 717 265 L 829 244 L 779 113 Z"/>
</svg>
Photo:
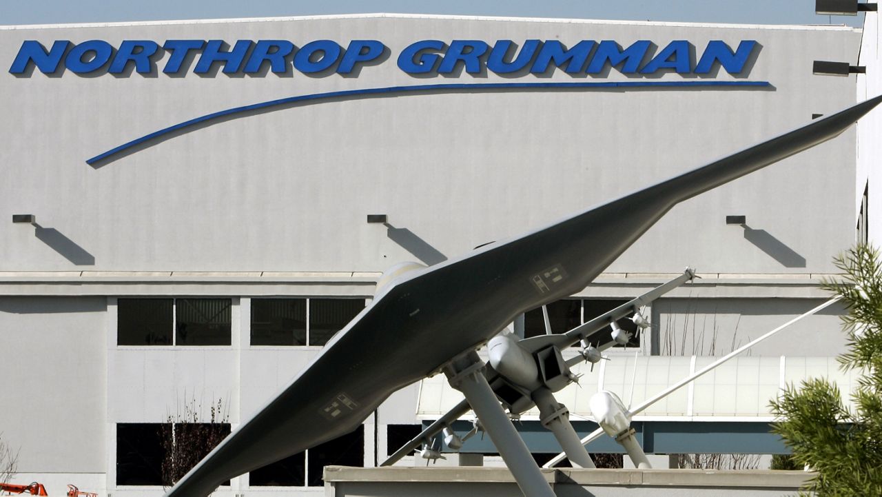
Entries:
<svg viewBox="0 0 882 497">
<path fill-rule="evenodd" d="M 221 19 L 405 12 L 516 17 L 629 19 L 739 24 L 848 24 L 857 17 L 818 16 L 814 0 L 2 0 L 0 25 L 162 19 Z"/>
</svg>

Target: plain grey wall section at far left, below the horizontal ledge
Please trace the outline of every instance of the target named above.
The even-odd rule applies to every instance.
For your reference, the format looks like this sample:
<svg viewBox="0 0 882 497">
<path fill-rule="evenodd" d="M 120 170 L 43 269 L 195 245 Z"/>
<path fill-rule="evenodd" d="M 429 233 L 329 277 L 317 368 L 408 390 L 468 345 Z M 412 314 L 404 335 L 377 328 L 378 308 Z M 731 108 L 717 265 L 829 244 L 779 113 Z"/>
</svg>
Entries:
<svg viewBox="0 0 882 497">
<path fill-rule="evenodd" d="M 22 473 L 105 470 L 105 302 L 0 298 L 0 432 Z"/>
</svg>

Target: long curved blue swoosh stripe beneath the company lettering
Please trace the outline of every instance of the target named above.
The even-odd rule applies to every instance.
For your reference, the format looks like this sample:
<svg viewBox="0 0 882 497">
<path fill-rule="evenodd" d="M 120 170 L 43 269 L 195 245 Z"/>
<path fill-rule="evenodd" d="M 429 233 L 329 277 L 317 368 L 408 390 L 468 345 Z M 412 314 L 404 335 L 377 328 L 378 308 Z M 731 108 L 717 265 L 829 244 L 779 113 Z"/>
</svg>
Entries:
<svg viewBox="0 0 882 497">
<path fill-rule="evenodd" d="M 324 100 L 338 97 L 353 97 L 370 94 L 401 94 L 409 92 L 430 92 L 437 90 L 494 90 L 494 89 L 512 89 L 512 88 L 632 88 L 632 87 L 769 87 L 768 81 L 574 81 L 574 82 L 548 82 L 548 83 L 443 83 L 437 85 L 414 85 L 409 87 L 382 87 L 382 88 L 363 88 L 358 90 L 341 90 L 337 92 L 327 92 L 323 94 L 305 94 L 296 95 L 287 98 L 280 98 L 268 102 L 253 103 L 242 107 L 234 107 L 225 109 L 213 114 L 195 117 L 183 123 L 168 126 L 159 131 L 146 134 L 140 138 L 133 139 L 119 147 L 111 148 L 103 154 L 98 154 L 91 159 L 86 159 L 86 163 L 93 165 L 97 162 L 112 158 L 116 154 L 121 154 L 125 150 L 146 143 L 153 139 L 161 138 L 170 132 L 183 130 L 190 126 L 206 123 L 219 117 L 230 116 L 250 110 L 266 109 L 276 105 L 284 105 L 294 102 L 309 102 L 315 100 Z"/>
</svg>

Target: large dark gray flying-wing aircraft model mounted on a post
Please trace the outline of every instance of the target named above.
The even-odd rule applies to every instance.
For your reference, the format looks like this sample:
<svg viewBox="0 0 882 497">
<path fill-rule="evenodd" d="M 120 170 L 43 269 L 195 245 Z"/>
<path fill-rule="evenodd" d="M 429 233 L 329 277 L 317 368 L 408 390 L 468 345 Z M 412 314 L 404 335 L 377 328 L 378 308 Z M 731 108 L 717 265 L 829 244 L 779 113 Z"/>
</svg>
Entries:
<svg viewBox="0 0 882 497">
<path fill-rule="evenodd" d="M 352 431 L 392 392 L 485 343 L 517 314 L 585 288 L 678 202 L 832 139 L 880 101 L 858 103 L 541 230 L 403 275 L 168 497 L 204 497 L 229 478 Z"/>
</svg>

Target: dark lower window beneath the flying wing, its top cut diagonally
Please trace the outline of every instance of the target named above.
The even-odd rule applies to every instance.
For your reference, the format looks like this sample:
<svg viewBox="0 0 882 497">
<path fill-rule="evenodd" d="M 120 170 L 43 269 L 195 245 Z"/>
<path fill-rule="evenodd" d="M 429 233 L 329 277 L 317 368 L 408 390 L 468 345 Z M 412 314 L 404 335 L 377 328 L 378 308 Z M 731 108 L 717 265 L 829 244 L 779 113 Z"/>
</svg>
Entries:
<svg viewBox="0 0 882 497">
<path fill-rule="evenodd" d="M 324 486 L 325 466 L 364 465 L 364 425 L 333 441 L 250 472 L 250 486 Z"/>
</svg>

